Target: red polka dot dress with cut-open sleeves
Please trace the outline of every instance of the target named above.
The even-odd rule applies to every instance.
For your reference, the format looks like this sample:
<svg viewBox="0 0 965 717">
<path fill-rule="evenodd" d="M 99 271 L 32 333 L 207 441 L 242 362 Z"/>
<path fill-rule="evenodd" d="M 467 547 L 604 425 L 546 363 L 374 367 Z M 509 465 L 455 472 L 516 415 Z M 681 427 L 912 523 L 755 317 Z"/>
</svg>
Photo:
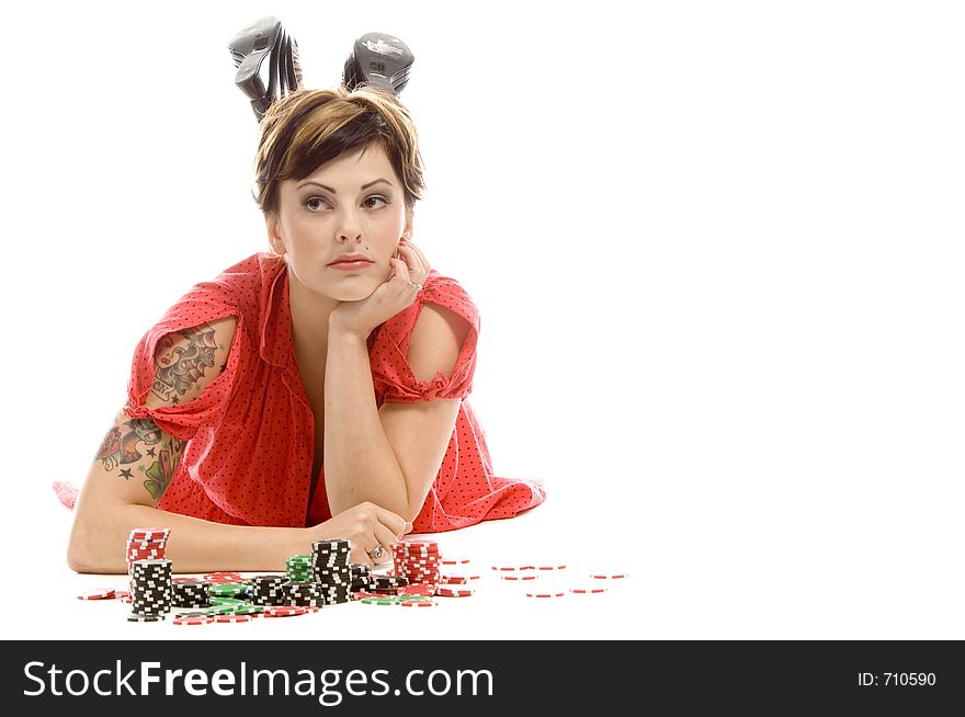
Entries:
<svg viewBox="0 0 965 717">
<path fill-rule="evenodd" d="M 543 502 L 534 482 L 497 477 L 483 429 L 466 397 L 476 367 L 479 315 L 466 292 L 435 271 L 416 303 L 368 338 L 376 402 L 463 399 L 425 504 L 413 522 L 439 533 L 480 521 L 512 517 Z M 423 304 L 443 306 L 472 327 L 450 376 L 419 380 L 406 358 Z M 164 335 L 226 316 L 237 320 L 224 372 L 200 398 L 148 408 L 155 349 Z M 151 418 L 188 441 L 178 471 L 158 508 L 235 525 L 315 525 L 331 517 L 323 468 L 311 504 L 314 419 L 292 342 L 285 262 L 259 253 L 194 286 L 138 343 L 128 384 L 132 418 Z"/>
</svg>

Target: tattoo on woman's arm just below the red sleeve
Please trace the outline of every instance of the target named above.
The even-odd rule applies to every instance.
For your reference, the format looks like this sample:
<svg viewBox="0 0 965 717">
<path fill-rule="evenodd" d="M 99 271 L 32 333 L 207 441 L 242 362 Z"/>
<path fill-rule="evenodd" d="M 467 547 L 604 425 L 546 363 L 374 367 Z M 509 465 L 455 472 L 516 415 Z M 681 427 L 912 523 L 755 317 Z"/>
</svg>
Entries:
<svg viewBox="0 0 965 717">
<path fill-rule="evenodd" d="M 140 464 L 136 470 L 145 477 L 145 489 L 158 500 L 174 477 L 186 442 L 166 435 L 151 419 L 123 421 L 123 416 L 122 413 L 107 431 L 96 459 L 104 470 L 120 467 L 118 477 L 130 480 L 134 477 L 130 464 L 148 458 L 148 465 Z M 144 453 L 140 452 L 141 448 Z"/>
</svg>

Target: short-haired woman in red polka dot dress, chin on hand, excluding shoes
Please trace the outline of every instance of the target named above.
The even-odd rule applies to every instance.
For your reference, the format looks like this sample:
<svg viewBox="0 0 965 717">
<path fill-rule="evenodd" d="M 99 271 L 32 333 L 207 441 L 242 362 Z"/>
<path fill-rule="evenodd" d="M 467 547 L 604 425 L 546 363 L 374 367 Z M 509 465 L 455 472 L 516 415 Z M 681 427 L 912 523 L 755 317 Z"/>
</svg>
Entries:
<svg viewBox="0 0 965 717">
<path fill-rule="evenodd" d="M 465 400 L 479 318 L 411 241 L 422 166 L 398 99 L 279 99 L 256 170 L 271 252 L 194 286 L 138 344 L 77 501 L 75 570 L 123 572 L 148 525 L 171 528 L 183 572 L 280 570 L 331 537 L 373 565 L 407 532 L 544 500 L 492 475 Z"/>
</svg>

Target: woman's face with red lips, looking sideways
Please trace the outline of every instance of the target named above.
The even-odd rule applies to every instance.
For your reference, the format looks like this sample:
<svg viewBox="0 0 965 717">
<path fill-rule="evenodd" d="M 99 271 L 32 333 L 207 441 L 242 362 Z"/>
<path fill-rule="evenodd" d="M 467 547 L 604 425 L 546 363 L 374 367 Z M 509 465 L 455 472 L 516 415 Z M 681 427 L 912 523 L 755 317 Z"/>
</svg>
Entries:
<svg viewBox="0 0 965 717">
<path fill-rule="evenodd" d="M 286 254 L 294 280 L 339 301 L 364 299 L 388 280 L 410 229 L 401 181 L 378 145 L 282 182 L 277 220 L 269 219 L 272 249 Z"/>
</svg>

